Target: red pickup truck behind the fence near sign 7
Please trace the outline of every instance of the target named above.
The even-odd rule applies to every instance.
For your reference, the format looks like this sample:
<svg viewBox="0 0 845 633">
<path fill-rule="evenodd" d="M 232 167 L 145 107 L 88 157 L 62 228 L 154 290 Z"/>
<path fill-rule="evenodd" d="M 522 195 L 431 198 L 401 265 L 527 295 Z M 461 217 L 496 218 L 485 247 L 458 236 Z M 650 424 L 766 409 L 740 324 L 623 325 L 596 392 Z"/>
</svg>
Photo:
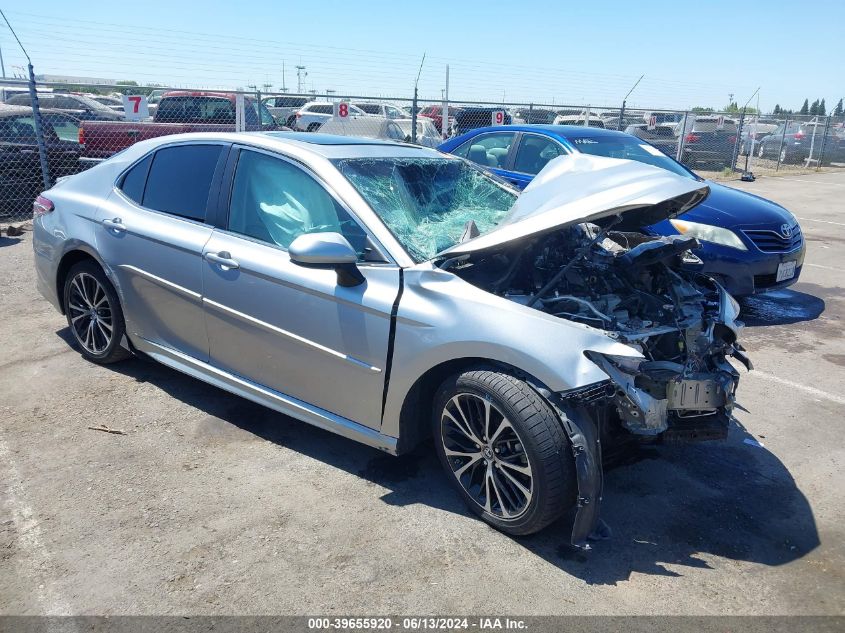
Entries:
<svg viewBox="0 0 845 633">
<path fill-rule="evenodd" d="M 237 96 L 229 92 L 171 91 L 158 103 L 152 121 L 84 121 L 79 128 L 82 158 L 102 159 L 157 136 L 185 132 L 233 132 Z M 279 130 L 267 107 L 244 97 L 244 129 Z"/>
</svg>

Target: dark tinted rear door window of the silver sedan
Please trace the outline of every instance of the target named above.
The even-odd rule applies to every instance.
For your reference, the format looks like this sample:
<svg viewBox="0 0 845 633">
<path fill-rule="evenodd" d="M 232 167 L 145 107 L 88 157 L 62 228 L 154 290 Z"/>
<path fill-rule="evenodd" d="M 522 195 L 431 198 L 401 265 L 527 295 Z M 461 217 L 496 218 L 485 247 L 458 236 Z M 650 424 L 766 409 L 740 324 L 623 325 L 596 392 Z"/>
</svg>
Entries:
<svg viewBox="0 0 845 633">
<path fill-rule="evenodd" d="M 192 220 L 205 220 L 205 207 L 220 145 L 178 145 L 155 153 L 143 206 Z"/>
</svg>

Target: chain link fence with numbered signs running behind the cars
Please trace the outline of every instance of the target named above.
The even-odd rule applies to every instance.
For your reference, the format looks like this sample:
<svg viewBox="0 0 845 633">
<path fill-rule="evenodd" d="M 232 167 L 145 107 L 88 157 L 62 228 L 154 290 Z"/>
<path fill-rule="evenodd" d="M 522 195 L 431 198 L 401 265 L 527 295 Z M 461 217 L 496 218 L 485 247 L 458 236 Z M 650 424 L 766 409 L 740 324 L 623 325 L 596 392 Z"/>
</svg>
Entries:
<svg viewBox="0 0 845 633">
<path fill-rule="evenodd" d="M 437 147 L 476 128 L 515 124 L 619 130 L 708 178 L 845 167 L 843 117 L 66 84 L 39 84 L 34 107 L 26 82 L 6 82 L 0 223 L 31 217 L 48 183 L 149 138 L 294 130 Z M 467 158 L 491 168 L 514 164 L 507 161 L 515 135 L 501 136 Z"/>
</svg>

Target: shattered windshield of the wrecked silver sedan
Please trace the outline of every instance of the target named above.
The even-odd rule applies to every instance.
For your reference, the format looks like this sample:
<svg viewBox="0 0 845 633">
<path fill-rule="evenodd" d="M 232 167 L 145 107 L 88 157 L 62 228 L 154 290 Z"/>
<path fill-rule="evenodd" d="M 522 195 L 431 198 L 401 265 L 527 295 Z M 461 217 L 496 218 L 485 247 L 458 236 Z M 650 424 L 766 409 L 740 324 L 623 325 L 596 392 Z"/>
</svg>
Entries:
<svg viewBox="0 0 845 633">
<path fill-rule="evenodd" d="M 458 244 L 470 220 L 480 233 L 491 230 L 517 196 L 463 160 L 348 158 L 335 164 L 418 263 Z"/>
</svg>

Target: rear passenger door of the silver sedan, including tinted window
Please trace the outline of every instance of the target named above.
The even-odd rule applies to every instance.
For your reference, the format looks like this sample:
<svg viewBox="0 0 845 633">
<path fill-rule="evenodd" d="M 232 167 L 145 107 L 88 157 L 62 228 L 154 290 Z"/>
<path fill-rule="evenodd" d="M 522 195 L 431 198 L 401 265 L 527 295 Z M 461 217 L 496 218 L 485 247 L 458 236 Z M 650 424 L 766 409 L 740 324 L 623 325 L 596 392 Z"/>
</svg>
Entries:
<svg viewBox="0 0 845 633">
<path fill-rule="evenodd" d="M 202 251 L 229 146 L 174 144 L 129 168 L 98 212 L 97 249 L 117 282 L 130 338 L 208 360 Z"/>
</svg>

